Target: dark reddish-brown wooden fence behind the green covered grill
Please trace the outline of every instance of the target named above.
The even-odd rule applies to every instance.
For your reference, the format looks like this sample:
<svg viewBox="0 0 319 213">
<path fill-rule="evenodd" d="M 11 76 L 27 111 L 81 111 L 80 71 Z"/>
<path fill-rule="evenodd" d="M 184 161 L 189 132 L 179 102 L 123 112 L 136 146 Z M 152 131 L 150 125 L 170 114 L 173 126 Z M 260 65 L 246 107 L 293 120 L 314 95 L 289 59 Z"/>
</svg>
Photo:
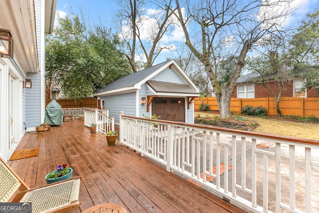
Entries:
<svg viewBox="0 0 319 213">
<path fill-rule="evenodd" d="M 45 100 L 45 107 L 52 100 Z M 81 98 L 81 101 L 76 99 L 57 99 L 62 108 L 97 108 L 96 98 Z M 100 108 L 100 100 L 98 100 L 98 108 Z"/>
</svg>

